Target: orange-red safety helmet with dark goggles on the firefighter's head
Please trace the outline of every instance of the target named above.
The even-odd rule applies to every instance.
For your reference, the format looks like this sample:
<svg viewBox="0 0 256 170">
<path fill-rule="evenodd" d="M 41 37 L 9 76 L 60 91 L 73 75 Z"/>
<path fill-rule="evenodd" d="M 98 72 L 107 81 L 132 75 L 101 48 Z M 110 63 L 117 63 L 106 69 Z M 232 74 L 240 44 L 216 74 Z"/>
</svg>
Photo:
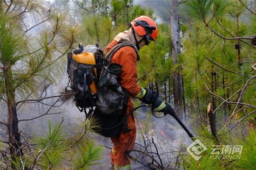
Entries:
<svg viewBox="0 0 256 170">
<path fill-rule="evenodd" d="M 147 36 L 147 39 L 157 39 L 158 28 L 153 19 L 147 16 L 140 16 L 132 20 L 131 25 L 139 36 Z"/>
</svg>

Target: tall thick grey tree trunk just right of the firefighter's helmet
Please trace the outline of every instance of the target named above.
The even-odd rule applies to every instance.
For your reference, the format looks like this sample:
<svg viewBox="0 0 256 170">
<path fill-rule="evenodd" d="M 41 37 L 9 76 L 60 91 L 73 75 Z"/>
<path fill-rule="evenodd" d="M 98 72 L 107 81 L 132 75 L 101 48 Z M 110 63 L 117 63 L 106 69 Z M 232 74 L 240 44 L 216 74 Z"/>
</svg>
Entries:
<svg viewBox="0 0 256 170">
<path fill-rule="evenodd" d="M 178 16 L 178 0 L 171 1 L 171 43 L 172 43 L 172 57 L 173 68 L 177 68 L 178 57 L 180 54 L 180 42 L 179 42 L 179 16 Z M 183 117 L 183 95 L 182 95 L 182 79 L 180 73 L 180 67 L 178 70 L 173 71 L 173 97 L 174 97 L 174 109 L 177 110 L 179 118 Z"/>
</svg>

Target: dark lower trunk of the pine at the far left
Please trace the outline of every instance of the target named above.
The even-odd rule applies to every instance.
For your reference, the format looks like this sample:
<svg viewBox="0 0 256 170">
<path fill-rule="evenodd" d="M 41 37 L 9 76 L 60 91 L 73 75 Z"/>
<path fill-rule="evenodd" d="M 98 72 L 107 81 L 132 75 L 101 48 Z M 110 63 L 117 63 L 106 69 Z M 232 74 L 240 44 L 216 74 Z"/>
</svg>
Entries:
<svg viewBox="0 0 256 170">
<path fill-rule="evenodd" d="M 5 89 L 8 103 L 8 132 L 9 132 L 9 147 L 11 159 L 21 157 L 23 155 L 21 146 L 21 135 L 18 130 L 18 118 L 15 102 L 15 88 L 13 86 L 14 79 L 10 65 L 5 66 L 8 68 L 4 70 Z"/>
</svg>

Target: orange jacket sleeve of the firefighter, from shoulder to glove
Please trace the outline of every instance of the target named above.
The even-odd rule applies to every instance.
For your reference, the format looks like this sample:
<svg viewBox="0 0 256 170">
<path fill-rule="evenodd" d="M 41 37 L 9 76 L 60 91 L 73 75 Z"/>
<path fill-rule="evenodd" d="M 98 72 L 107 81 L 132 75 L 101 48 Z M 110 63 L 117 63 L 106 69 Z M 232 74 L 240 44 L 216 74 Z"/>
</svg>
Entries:
<svg viewBox="0 0 256 170">
<path fill-rule="evenodd" d="M 137 54 L 132 47 L 120 48 L 112 56 L 111 62 L 118 63 L 123 68 L 119 73 L 121 86 L 135 97 L 142 88 L 138 84 L 137 75 Z"/>
</svg>

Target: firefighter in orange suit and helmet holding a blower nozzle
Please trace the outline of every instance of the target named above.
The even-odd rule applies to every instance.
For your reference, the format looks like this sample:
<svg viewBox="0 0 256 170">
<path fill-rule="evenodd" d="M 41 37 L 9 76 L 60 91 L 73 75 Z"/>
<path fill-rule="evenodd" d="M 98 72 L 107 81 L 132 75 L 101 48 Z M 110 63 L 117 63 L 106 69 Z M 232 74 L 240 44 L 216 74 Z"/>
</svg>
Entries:
<svg viewBox="0 0 256 170">
<path fill-rule="evenodd" d="M 139 50 L 145 45 L 149 45 L 150 41 L 157 39 L 158 27 L 157 24 L 147 16 L 140 16 L 131 22 L 131 28 L 117 34 L 113 41 L 106 47 L 105 52 L 120 42 L 132 42 Z M 118 63 L 123 68 L 118 75 L 121 86 L 130 94 L 127 103 L 126 114 L 134 107 L 132 97 L 138 98 L 140 101 L 151 104 L 155 111 L 174 113 L 172 107 L 164 103 L 157 94 L 150 89 L 144 89 L 139 86 L 137 80 L 137 56 L 136 50 L 130 46 L 124 46 L 113 54 L 111 62 Z M 110 157 L 111 164 L 114 169 L 131 169 L 131 160 L 127 156 L 127 151 L 132 150 L 136 139 L 136 126 L 134 115 L 127 118 L 129 132 L 122 132 L 119 137 L 111 138 L 114 146 Z"/>
</svg>

